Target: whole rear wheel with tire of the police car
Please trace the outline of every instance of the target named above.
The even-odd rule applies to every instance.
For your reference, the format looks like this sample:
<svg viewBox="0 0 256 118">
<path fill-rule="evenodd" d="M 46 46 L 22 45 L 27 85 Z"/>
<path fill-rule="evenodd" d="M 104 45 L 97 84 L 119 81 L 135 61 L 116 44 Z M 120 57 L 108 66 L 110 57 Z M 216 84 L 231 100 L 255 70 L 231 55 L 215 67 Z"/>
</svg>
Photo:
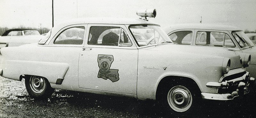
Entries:
<svg viewBox="0 0 256 118">
<path fill-rule="evenodd" d="M 40 76 L 30 76 L 25 79 L 25 86 L 28 94 L 34 99 L 46 99 L 51 97 L 54 89 L 50 86 L 49 81 Z"/>
</svg>

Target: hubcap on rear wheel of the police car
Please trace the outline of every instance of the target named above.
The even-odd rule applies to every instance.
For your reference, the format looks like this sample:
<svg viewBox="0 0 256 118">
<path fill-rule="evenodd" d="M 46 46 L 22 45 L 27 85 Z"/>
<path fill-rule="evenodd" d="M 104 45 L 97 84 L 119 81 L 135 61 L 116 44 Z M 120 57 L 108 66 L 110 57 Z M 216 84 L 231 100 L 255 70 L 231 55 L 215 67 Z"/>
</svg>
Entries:
<svg viewBox="0 0 256 118">
<path fill-rule="evenodd" d="M 33 92 L 40 94 L 44 91 L 45 80 L 42 77 L 31 76 L 29 85 Z"/>
</svg>

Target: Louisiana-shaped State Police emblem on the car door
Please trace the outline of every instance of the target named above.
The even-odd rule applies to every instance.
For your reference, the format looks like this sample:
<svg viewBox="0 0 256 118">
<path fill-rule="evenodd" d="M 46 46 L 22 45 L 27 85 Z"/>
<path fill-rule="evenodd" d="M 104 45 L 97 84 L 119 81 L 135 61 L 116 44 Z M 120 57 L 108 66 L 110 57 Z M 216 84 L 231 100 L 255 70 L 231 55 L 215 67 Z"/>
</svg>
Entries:
<svg viewBox="0 0 256 118">
<path fill-rule="evenodd" d="M 104 80 L 109 79 L 112 82 L 116 82 L 119 80 L 118 70 L 110 69 L 113 61 L 113 55 L 98 55 L 98 65 L 100 67 L 98 78 L 102 78 Z"/>
</svg>

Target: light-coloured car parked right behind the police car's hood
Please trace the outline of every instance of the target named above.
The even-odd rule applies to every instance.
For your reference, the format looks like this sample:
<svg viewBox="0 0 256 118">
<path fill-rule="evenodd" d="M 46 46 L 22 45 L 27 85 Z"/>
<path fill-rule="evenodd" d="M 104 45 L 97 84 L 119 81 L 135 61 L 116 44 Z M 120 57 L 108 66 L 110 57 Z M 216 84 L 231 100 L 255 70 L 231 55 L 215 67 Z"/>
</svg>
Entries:
<svg viewBox="0 0 256 118">
<path fill-rule="evenodd" d="M 164 30 L 176 44 L 213 47 L 212 51 L 224 48 L 236 52 L 245 65 L 249 64 L 246 71 L 256 77 L 256 48 L 241 29 L 216 24 L 174 24 Z M 251 60 L 248 60 L 248 54 Z"/>
</svg>

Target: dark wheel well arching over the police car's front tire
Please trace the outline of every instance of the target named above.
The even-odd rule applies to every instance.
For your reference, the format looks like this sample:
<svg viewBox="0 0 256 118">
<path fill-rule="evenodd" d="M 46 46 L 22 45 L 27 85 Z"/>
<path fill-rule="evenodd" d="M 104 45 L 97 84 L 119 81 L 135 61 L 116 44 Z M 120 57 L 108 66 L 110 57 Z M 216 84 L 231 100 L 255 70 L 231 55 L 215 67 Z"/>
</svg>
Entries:
<svg viewBox="0 0 256 118">
<path fill-rule="evenodd" d="M 196 81 L 194 81 L 193 79 L 188 77 L 181 77 L 181 76 L 167 76 L 167 77 L 164 77 L 159 82 L 156 88 L 156 99 L 159 99 L 159 97 L 161 97 L 161 95 L 164 94 L 163 92 L 166 86 L 168 85 L 172 86 L 172 84 L 186 84 L 186 85 L 192 86 L 194 90 L 200 92 L 201 94 L 200 88 L 196 84 Z"/>
</svg>

